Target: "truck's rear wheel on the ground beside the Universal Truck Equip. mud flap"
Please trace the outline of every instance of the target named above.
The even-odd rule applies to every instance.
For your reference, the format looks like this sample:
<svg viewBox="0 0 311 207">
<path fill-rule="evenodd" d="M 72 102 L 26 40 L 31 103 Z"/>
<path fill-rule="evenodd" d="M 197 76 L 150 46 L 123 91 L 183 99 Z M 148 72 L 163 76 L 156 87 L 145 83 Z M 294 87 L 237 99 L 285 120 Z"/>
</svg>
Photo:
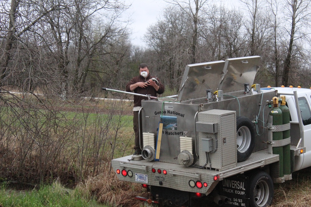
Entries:
<svg viewBox="0 0 311 207">
<path fill-rule="evenodd" d="M 270 175 L 258 171 L 249 178 L 249 204 L 251 207 L 266 207 L 272 204 L 273 182 Z"/>
</svg>

